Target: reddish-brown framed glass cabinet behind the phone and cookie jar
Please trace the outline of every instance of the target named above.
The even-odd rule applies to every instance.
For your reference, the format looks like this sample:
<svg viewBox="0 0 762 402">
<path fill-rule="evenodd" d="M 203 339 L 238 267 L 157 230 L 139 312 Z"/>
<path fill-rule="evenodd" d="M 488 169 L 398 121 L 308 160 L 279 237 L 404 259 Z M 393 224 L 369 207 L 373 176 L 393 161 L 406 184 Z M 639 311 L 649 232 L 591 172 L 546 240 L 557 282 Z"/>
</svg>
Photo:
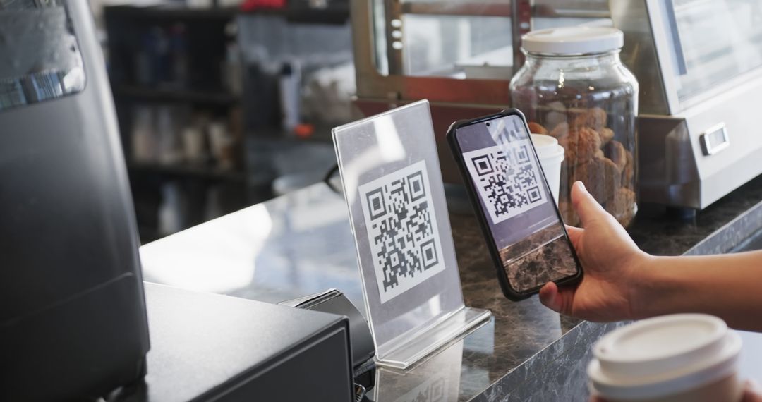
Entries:
<svg viewBox="0 0 762 402">
<path fill-rule="evenodd" d="M 353 0 L 351 10 L 357 106 L 370 116 L 431 101 L 449 183 L 460 175 L 443 141 L 447 127 L 510 106 L 523 33 L 611 24 L 606 0 Z"/>
</svg>

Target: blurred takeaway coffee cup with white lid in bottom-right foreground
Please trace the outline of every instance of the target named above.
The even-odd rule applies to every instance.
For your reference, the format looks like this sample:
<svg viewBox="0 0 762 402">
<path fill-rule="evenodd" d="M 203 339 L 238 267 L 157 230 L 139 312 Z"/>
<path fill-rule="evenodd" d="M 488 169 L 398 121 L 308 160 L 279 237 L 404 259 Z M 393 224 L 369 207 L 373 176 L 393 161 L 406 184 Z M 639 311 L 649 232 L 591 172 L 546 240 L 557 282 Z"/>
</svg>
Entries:
<svg viewBox="0 0 762 402">
<path fill-rule="evenodd" d="M 738 402 L 741 337 L 706 314 L 649 318 L 600 338 L 591 394 L 611 402 Z"/>
</svg>

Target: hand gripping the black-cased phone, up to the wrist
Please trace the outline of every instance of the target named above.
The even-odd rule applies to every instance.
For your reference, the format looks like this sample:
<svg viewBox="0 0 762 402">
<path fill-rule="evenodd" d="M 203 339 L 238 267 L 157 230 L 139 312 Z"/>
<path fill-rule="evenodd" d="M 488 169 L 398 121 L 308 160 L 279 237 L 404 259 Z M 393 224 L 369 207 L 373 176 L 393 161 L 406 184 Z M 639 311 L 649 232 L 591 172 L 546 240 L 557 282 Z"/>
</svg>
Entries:
<svg viewBox="0 0 762 402">
<path fill-rule="evenodd" d="M 590 321 L 636 318 L 636 282 L 648 261 L 619 222 L 598 204 L 581 182 L 571 187 L 571 204 L 583 228 L 567 226 L 584 270 L 576 287 L 548 282 L 539 300 L 553 311 Z"/>
</svg>

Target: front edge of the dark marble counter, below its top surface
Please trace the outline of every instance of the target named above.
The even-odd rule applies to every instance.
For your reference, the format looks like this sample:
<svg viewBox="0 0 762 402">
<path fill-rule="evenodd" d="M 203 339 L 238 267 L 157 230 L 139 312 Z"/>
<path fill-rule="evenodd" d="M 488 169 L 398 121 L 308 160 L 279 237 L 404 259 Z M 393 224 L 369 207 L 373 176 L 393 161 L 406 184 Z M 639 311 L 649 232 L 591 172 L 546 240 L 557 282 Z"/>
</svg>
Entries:
<svg viewBox="0 0 762 402">
<path fill-rule="evenodd" d="M 742 212 L 735 219 L 712 232 L 703 241 L 690 247 L 684 255 L 722 254 L 738 247 L 762 227 L 762 202 Z M 527 362 L 471 400 L 475 402 L 507 402 L 524 400 L 588 400 L 587 365 L 591 346 L 604 333 L 627 322 L 594 323 L 583 321 L 565 333 Z"/>
</svg>

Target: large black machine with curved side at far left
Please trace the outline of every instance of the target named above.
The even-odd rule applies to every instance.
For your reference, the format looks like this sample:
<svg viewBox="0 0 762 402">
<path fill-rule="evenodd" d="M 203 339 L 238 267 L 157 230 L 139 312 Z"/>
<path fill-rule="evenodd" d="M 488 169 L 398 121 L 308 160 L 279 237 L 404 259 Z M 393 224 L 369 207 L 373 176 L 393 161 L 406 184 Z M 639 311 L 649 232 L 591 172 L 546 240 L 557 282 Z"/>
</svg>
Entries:
<svg viewBox="0 0 762 402">
<path fill-rule="evenodd" d="M 145 375 L 138 245 L 88 2 L 0 0 L 0 400 Z"/>
</svg>

